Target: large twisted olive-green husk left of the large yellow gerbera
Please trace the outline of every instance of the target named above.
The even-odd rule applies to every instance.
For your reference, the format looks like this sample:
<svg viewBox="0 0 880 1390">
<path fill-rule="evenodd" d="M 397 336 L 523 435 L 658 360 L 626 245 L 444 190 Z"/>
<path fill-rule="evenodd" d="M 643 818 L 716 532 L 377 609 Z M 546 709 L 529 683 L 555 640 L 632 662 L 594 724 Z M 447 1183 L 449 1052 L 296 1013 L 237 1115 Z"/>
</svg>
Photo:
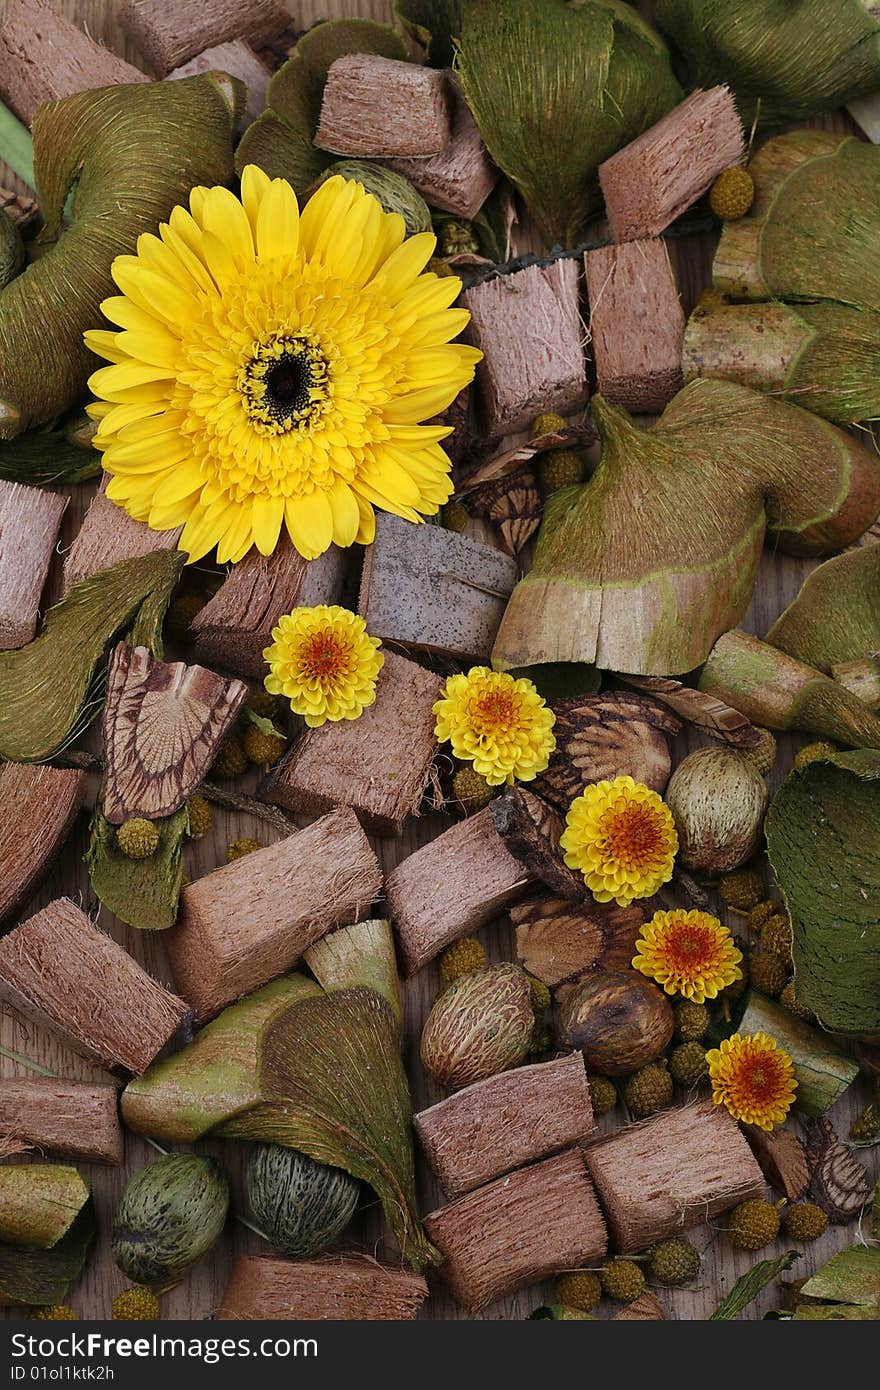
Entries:
<svg viewBox="0 0 880 1390">
<path fill-rule="evenodd" d="M 133 252 L 196 183 L 225 183 L 242 83 L 222 75 L 79 92 L 33 120 L 36 186 L 58 238 L 0 295 L 0 436 L 67 410 L 95 359 L 82 335 Z M 61 231 L 71 186 L 71 224 Z"/>
</svg>

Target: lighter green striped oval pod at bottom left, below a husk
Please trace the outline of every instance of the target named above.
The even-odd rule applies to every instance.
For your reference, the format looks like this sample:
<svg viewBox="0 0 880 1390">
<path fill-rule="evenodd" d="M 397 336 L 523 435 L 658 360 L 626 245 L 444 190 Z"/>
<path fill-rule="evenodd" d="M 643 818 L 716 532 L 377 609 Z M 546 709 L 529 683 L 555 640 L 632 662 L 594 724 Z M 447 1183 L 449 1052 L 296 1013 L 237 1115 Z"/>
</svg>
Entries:
<svg viewBox="0 0 880 1390">
<path fill-rule="evenodd" d="M 135 1284 L 172 1289 L 220 1236 L 229 1187 L 215 1158 L 165 1154 L 129 1177 L 113 1218 L 117 1265 Z"/>
</svg>

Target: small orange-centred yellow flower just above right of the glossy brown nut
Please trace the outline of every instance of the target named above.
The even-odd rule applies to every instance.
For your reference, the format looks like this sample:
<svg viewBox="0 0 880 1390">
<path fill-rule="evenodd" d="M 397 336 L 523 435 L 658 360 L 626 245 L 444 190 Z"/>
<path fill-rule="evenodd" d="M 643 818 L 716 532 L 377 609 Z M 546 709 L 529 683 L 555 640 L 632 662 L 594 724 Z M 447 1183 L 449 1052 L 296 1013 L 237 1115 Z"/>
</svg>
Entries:
<svg viewBox="0 0 880 1390">
<path fill-rule="evenodd" d="M 655 912 L 635 942 L 633 966 L 662 984 L 667 994 L 681 994 L 694 1004 L 715 999 L 734 980 L 742 979 L 742 952 L 710 912 Z"/>
</svg>

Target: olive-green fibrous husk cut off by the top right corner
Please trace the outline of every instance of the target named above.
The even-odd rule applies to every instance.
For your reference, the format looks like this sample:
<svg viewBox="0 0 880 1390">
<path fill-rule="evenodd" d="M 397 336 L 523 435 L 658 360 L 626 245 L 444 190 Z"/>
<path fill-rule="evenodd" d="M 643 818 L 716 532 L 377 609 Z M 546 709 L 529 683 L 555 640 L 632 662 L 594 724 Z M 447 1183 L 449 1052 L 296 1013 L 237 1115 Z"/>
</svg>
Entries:
<svg viewBox="0 0 880 1390">
<path fill-rule="evenodd" d="M 691 86 L 727 82 L 747 124 L 780 125 L 876 92 L 879 10 L 870 0 L 659 0 L 653 17 Z"/>
</svg>

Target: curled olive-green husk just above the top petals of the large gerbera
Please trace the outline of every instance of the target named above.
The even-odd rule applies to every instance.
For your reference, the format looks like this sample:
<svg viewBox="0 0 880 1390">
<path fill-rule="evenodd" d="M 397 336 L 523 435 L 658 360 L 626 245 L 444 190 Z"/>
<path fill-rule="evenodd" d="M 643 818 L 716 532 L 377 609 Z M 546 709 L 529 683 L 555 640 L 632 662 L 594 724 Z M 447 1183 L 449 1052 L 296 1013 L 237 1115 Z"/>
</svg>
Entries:
<svg viewBox="0 0 880 1390">
<path fill-rule="evenodd" d="M 314 145 L 327 74 L 348 53 L 407 58 L 406 44 L 388 24 L 328 19 L 302 36 L 292 56 L 270 79 L 266 111 L 249 125 L 235 154 L 241 174 L 259 164 L 270 178 L 286 178 L 300 197 L 338 158 Z"/>
</svg>

